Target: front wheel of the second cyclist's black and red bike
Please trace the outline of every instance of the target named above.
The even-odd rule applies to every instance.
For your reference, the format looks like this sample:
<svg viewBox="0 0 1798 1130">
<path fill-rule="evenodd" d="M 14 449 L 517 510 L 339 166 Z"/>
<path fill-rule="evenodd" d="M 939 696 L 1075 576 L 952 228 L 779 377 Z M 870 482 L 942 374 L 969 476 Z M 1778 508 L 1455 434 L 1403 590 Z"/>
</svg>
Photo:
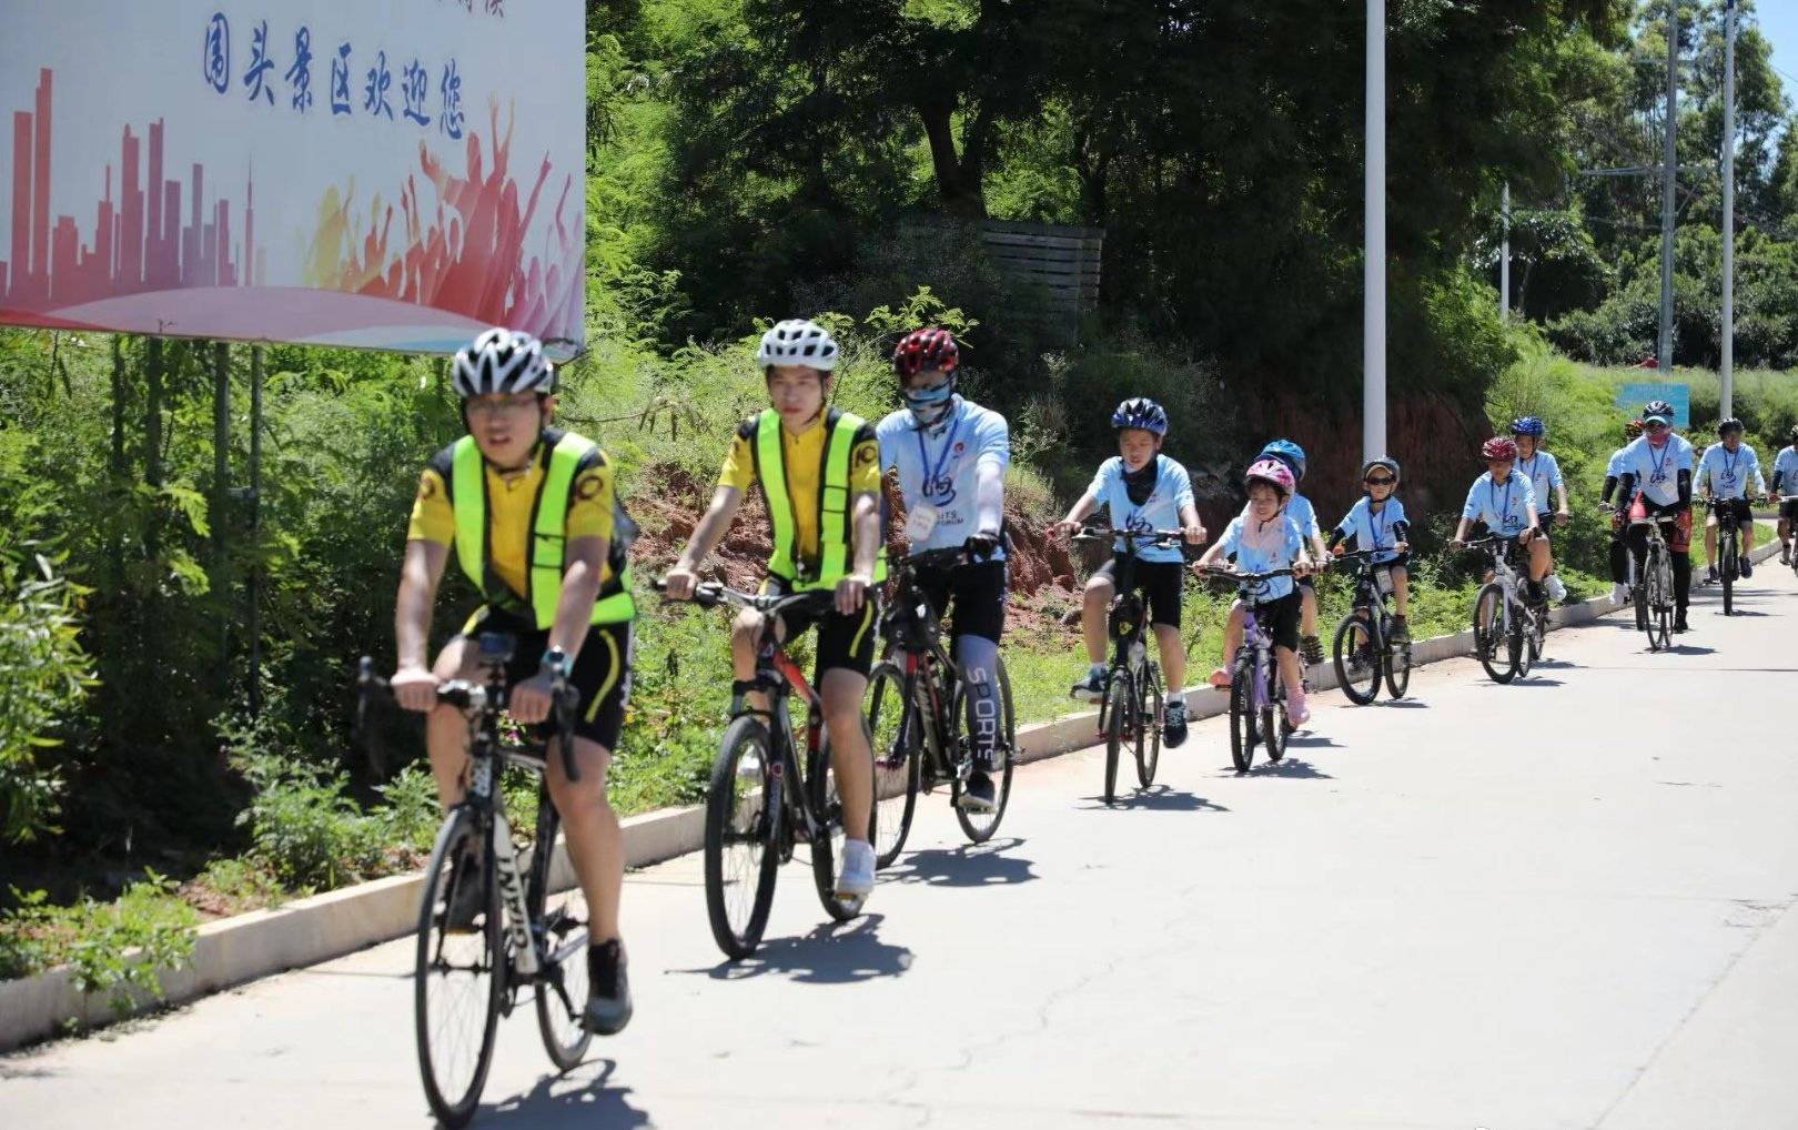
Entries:
<svg viewBox="0 0 1798 1130">
<path fill-rule="evenodd" d="M 705 912 L 725 957 L 755 952 L 768 927 L 780 864 L 780 779 L 768 776 L 773 749 L 761 718 L 725 727 L 705 795 Z"/>
</svg>

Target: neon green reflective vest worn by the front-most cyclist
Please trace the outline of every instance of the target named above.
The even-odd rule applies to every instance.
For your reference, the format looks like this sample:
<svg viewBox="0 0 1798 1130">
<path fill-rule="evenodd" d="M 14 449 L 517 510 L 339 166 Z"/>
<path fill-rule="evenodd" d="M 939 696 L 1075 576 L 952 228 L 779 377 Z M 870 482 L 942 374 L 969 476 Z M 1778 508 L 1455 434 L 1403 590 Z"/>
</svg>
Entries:
<svg viewBox="0 0 1798 1130">
<path fill-rule="evenodd" d="M 556 603 L 561 599 L 561 578 L 566 551 L 568 500 L 574 495 L 574 477 L 590 453 L 599 446 L 574 432 L 545 432 L 548 466 L 543 484 L 530 504 L 530 552 L 527 556 L 527 592 L 525 605 L 539 630 L 556 623 Z M 450 457 L 450 502 L 455 509 L 455 556 L 462 572 L 475 581 L 475 588 L 489 603 L 509 606 L 518 597 L 503 583 L 489 576 L 487 570 L 487 473 L 480 448 L 473 435 L 464 435 L 451 444 Z M 471 486 L 473 484 L 473 489 Z M 613 545 L 619 545 L 613 529 Z M 622 624 L 636 617 L 636 603 L 631 599 L 631 570 L 622 554 L 613 560 L 613 576 L 601 588 L 593 601 L 595 624 Z"/>
</svg>

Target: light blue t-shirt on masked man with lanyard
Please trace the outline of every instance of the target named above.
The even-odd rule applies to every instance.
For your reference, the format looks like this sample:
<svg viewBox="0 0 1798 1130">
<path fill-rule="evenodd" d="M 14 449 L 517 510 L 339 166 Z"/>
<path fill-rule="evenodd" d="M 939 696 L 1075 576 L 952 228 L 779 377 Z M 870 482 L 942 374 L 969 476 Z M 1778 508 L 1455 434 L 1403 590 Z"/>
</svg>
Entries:
<svg viewBox="0 0 1798 1130">
<path fill-rule="evenodd" d="M 1001 473 L 1010 464 L 1010 428 L 1003 416 L 957 396 L 937 426 L 921 430 L 912 412 L 899 408 L 874 426 L 874 437 L 881 444 L 881 466 L 899 471 L 906 509 L 919 502 L 937 507 L 937 525 L 912 542 L 912 552 L 949 549 L 980 533 L 975 498 L 980 464 L 996 462 Z M 994 560 L 1003 556 L 1003 551 L 992 554 Z"/>
</svg>

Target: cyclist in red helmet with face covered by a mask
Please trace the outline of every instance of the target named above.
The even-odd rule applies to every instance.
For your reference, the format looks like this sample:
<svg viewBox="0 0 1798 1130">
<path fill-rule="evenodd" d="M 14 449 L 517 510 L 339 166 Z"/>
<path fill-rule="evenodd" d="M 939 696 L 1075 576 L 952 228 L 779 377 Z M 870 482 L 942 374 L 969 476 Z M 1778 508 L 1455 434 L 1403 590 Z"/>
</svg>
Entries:
<svg viewBox="0 0 1798 1130">
<path fill-rule="evenodd" d="M 960 347 L 948 329 L 915 329 L 894 349 L 899 408 L 876 425 L 881 466 L 897 475 L 912 552 L 964 545 L 969 561 L 919 569 L 917 583 L 940 615 L 955 597 L 955 662 L 967 687 L 975 767 L 960 806 L 992 812 L 998 745 L 1000 635 L 1005 630 L 1005 468 L 1010 428 L 998 412 L 960 396 Z"/>
</svg>

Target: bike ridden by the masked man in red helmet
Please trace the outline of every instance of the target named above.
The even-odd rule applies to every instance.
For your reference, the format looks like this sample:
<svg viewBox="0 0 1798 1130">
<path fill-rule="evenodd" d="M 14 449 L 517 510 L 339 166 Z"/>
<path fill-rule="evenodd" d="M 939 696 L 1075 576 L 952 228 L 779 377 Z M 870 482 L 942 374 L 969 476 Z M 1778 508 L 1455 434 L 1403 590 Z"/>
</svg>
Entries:
<svg viewBox="0 0 1798 1130">
<path fill-rule="evenodd" d="M 912 833 L 919 792 L 949 785 L 949 806 L 962 831 L 984 844 L 998 831 L 1010 801 L 1018 720 L 1012 714 L 1010 677 L 998 664 L 992 812 L 962 808 L 962 788 L 975 765 L 973 736 L 964 732 L 967 687 L 940 630 L 940 610 L 917 583 L 919 569 L 967 563 L 962 547 L 930 549 L 892 565 L 894 601 L 881 617 L 886 657 L 868 675 L 868 731 L 874 734 L 874 797 L 879 806 L 876 865 L 888 867 Z"/>
</svg>

